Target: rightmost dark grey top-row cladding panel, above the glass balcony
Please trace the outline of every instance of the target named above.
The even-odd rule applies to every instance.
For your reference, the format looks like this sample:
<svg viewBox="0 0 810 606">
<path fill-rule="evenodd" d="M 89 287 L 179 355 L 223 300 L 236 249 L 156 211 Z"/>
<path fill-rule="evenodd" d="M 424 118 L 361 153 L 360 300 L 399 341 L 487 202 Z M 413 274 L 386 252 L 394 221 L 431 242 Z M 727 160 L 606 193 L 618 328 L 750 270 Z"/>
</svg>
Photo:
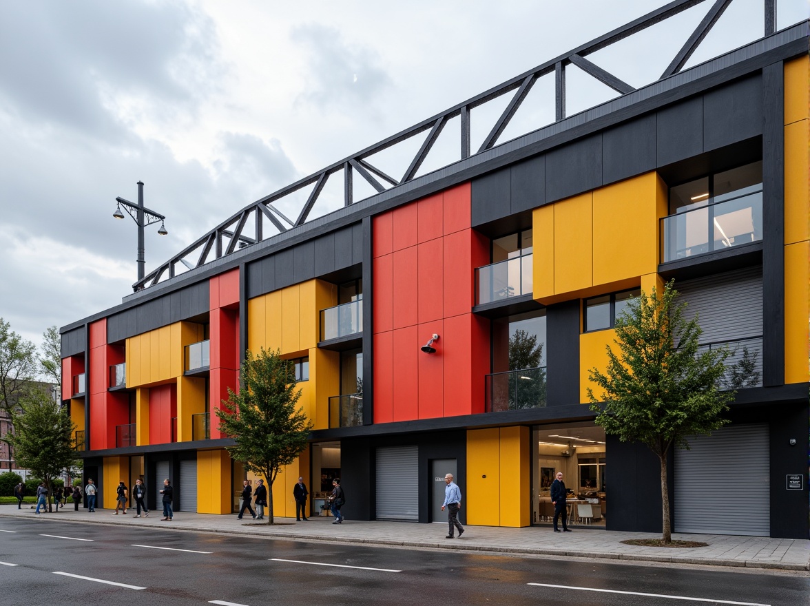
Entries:
<svg viewBox="0 0 810 606">
<path fill-rule="evenodd" d="M 762 77 L 756 75 L 703 96 L 703 151 L 762 134 Z"/>
</svg>

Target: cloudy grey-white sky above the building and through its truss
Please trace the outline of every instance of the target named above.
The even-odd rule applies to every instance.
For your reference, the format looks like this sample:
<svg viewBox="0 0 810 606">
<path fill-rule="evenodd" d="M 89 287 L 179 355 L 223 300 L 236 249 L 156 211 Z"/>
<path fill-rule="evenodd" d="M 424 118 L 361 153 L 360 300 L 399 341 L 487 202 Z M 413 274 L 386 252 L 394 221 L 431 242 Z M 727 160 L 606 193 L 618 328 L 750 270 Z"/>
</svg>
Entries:
<svg viewBox="0 0 810 606">
<path fill-rule="evenodd" d="M 120 303 L 136 229 L 112 213 L 136 181 L 167 216 L 167 237 L 147 228 L 148 273 L 256 199 L 665 3 L 2 0 L 0 317 L 39 343 Z M 590 59 L 649 83 L 712 3 Z M 761 36 L 761 6 L 734 0 L 688 66 Z M 807 18 L 808 0 L 778 0 L 779 28 Z M 615 95 L 568 83 L 569 114 Z M 549 84 L 501 141 L 553 119 Z M 474 148 L 506 102 L 473 112 Z M 420 173 L 454 160 L 445 134 Z M 323 199 L 311 217 L 338 203 Z"/>
</svg>

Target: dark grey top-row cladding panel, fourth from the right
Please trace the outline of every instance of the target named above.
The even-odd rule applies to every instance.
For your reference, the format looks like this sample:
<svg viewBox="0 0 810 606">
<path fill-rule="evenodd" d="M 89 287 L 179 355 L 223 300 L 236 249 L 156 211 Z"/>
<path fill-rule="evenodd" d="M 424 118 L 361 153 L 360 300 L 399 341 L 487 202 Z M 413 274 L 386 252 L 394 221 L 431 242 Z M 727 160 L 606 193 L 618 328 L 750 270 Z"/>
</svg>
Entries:
<svg viewBox="0 0 810 606">
<path fill-rule="evenodd" d="M 546 202 L 581 194 L 601 185 L 601 133 L 546 154 Z"/>
</svg>

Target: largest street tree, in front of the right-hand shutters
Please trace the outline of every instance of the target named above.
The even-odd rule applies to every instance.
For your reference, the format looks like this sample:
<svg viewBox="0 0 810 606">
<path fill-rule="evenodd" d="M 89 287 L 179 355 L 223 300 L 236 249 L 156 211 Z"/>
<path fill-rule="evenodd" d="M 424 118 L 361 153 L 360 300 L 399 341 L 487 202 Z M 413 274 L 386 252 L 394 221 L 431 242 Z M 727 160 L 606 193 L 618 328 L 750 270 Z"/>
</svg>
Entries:
<svg viewBox="0 0 810 606">
<path fill-rule="evenodd" d="M 689 449 L 688 437 L 709 434 L 728 421 L 721 415 L 735 392 L 721 391 L 727 348 L 700 352 L 697 318 L 683 318 L 669 282 L 659 296 L 633 298 L 616 318 L 619 354 L 608 350 L 606 373 L 590 369 L 590 380 L 603 390 L 600 402 L 588 388 L 595 423 L 621 442 L 642 442 L 661 463 L 663 543 L 671 543 L 667 452 Z"/>
</svg>

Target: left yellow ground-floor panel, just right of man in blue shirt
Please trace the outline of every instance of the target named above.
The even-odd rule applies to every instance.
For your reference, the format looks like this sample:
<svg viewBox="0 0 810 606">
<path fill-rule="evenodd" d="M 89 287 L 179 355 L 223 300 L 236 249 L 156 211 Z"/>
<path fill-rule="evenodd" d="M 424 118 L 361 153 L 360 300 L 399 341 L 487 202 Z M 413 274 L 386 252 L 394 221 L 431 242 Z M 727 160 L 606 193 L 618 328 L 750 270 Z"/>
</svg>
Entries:
<svg viewBox="0 0 810 606">
<path fill-rule="evenodd" d="M 463 519 L 473 526 L 501 522 L 500 437 L 497 428 L 467 432 L 467 494 L 461 502 Z"/>
</svg>

